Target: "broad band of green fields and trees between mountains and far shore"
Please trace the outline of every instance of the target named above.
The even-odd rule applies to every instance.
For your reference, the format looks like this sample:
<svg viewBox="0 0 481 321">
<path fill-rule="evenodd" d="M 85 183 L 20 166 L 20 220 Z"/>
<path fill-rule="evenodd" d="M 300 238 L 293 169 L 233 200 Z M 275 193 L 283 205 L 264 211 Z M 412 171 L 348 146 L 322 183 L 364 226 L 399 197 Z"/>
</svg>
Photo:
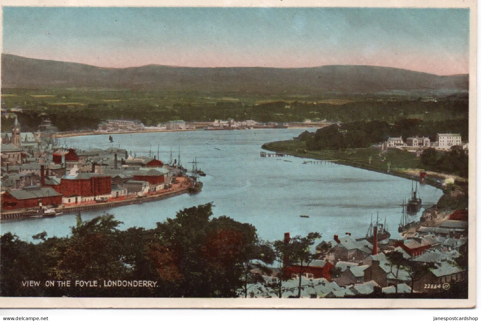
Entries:
<svg viewBox="0 0 481 321">
<path fill-rule="evenodd" d="M 213 121 L 234 118 L 258 122 L 336 120 L 341 122 L 404 118 L 457 120 L 468 116 L 468 97 L 454 94 L 430 101 L 432 93 L 311 95 L 253 92 L 184 92 L 114 89 L 2 89 L 1 107 L 20 107 L 26 130 L 49 117 L 60 131 L 97 128 L 109 118 L 139 119 L 146 126 L 169 120 Z M 2 130 L 12 121 L 2 119 Z"/>
</svg>

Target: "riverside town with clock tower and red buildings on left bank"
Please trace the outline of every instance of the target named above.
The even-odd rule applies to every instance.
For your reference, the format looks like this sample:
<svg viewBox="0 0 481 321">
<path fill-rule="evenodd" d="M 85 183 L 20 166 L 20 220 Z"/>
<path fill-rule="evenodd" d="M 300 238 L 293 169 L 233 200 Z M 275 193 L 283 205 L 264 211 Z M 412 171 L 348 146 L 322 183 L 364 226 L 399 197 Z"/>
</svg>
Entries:
<svg viewBox="0 0 481 321">
<path fill-rule="evenodd" d="M 2 219 L 55 216 L 195 192 L 198 174 L 205 175 L 195 164 L 192 171 L 184 168 L 180 150 L 164 164 L 158 155 L 137 157 L 115 147 L 55 147 L 45 128 L 48 122 L 36 133 L 22 132 L 15 119 L 12 132 L 2 134 Z"/>
</svg>

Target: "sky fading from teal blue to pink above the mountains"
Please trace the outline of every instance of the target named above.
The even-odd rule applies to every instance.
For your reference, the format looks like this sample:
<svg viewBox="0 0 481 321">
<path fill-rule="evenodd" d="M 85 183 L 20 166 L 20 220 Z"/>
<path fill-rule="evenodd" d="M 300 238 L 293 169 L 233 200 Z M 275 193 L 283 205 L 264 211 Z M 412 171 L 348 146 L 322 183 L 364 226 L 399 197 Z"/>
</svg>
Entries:
<svg viewBox="0 0 481 321">
<path fill-rule="evenodd" d="M 468 73 L 469 10 L 3 7 L 3 52 L 101 67 L 363 64 Z"/>
</svg>

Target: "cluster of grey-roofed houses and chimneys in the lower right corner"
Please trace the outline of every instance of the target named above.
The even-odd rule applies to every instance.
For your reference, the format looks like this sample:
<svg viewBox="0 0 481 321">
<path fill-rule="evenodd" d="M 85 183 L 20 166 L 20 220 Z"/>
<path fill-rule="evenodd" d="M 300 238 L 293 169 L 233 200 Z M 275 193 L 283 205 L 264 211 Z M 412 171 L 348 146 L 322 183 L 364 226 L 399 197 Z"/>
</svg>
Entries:
<svg viewBox="0 0 481 321">
<path fill-rule="evenodd" d="M 381 293 L 431 292 L 439 289 L 426 288 L 425 284 L 451 286 L 467 278 L 467 267 L 456 264 L 461 256 L 460 248 L 467 239 L 466 217 L 454 216 L 438 227 L 443 233 L 421 228 L 419 233 L 402 240 L 388 239 L 371 244 L 366 239 L 355 239 L 349 234 L 334 235 L 332 247 L 324 258 L 284 267 L 284 275 L 290 280 L 283 282 L 283 297 L 298 294 L 299 273 L 302 272 L 301 297 L 349 297 Z M 284 236 L 289 242 L 289 233 Z M 321 242 L 318 246 L 326 241 Z M 373 243 L 376 241 L 373 241 Z M 378 253 L 379 249 L 379 253 Z M 387 254 L 399 252 L 412 267 L 429 265 L 430 270 L 416 276 L 404 268 L 397 269 Z M 302 269 L 302 270 L 301 270 Z M 260 272 L 260 271 L 259 271 Z M 263 275 L 266 283 L 278 277 L 278 271 Z M 276 297 L 278 293 L 266 283 L 249 285 L 251 297 Z M 412 287 L 412 288 L 411 288 Z"/>
</svg>

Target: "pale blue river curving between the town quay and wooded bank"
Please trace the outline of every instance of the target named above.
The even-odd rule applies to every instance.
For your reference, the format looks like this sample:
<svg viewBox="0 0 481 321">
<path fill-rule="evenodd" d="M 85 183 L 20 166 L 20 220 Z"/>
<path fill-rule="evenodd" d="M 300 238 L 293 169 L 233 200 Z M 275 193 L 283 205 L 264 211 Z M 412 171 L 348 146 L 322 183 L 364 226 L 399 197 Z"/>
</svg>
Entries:
<svg viewBox="0 0 481 321">
<path fill-rule="evenodd" d="M 225 215 L 253 224 L 259 237 L 269 241 L 282 239 L 284 232 L 304 236 L 316 231 L 326 240 L 345 232 L 363 237 L 371 216 L 376 218 L 378 212 L 382 221 L 386 219 L 391 238 L 399 239 L 399 204 L 409 197 L 411 180 L 337 164 L 303 165 L 304 159 L 297 157 L 260 157 L 263 143 L 291 139 L 303 131 L 288 128 L 116 134 L 112 135 L 113 144 L 108 141 L 109 135 L 93 135 L 62 139 L 61 143 L 81 149 L 120 145 L 138 156 L 148 155 L 150 150 L 157 154 L 160 144 L 160 159 L 164 161 L 170 158 L 171 147 L 177 158 L 180 147 L 185 167 L 197 157 L 198 167 L 207 173 L 201 178 L 201 193 L 108 209 L 123 222 L 121 229 L 154 228 L 156 222 L 174 218 L 180 209 L 213 202 L 215 217 Z M 419 193 L 423 202 L 437 202 L 443 194 L 430 185 L 419 186 Z M 87 220 L 103 212 L 84 212 L 82 218 Z M 0 224 L 0 233 L 10 231 L 33 242 L 31 236 L 41 231 L 49 237 L 69 235 L 75 223 L 75 214 L 5 220 Z"/>
</svg>

